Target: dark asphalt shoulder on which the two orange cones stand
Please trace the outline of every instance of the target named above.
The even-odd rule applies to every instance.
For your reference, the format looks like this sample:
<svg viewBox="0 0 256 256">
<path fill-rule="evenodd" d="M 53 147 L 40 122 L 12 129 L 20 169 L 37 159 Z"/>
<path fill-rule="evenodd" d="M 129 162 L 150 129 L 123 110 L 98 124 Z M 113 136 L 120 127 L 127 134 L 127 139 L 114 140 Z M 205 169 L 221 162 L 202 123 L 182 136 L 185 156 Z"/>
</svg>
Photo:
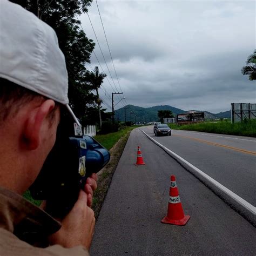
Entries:
<svg viewBox="0 0 256 256">
<path fill-rule="evenodd" d="M 146 165 L 134 165 L 137 146 Z M 160 222 L 167 213 L 171 174 L 191 216 L 185 226 Z M 96 223 L 91 255 L 206 254 L 255 255 L 255 228 L 142 131 L 133 130 Z"/>
</svg>

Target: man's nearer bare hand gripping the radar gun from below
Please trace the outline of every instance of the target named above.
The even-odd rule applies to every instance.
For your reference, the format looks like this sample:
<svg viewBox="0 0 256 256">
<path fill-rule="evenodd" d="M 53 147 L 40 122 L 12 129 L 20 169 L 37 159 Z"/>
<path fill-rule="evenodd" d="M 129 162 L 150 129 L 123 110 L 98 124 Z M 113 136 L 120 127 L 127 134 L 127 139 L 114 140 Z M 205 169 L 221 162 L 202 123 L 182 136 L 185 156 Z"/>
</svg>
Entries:
<svg viewBox="0 0 256 256">
<path fill-rule="evenodd" d="M 92 179 L 95 180 L 94 178 Z M 95 183 L 93 181 L 91 182 L 94 185 L 90 186 L 89 184 L 86 184 L 93 190 L 96 180 Z M 82 245 L 87 250 L 90 250 L 95 228 L 95 215 L 92 209 L 88 206 L 89 195 L 91 195 L 91 193 L 87 194 L 82 190 L 80 191 L 76 204 L 69 214 L 60 221 L 62 224 L 60 230 L 55 234 L 50 235 L 49 241 L 51 245 L 58 244 L 66 248 Z"/>
</svg>

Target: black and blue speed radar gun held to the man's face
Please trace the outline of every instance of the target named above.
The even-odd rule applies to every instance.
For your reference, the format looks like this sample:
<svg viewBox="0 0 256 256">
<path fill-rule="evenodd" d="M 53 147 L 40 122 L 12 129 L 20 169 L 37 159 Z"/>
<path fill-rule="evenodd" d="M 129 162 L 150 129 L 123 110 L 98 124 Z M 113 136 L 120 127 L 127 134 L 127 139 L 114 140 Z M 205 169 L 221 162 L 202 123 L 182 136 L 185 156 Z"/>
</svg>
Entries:
<svg viewBox="0 0 256 256">
<path fill-rule="evenodd" d="M 83 135 L 82 127 L 69 117 L 60 120 L 56 143 L 30 192 L 33 199 L 46 200 L 46 212 L 63 218 L 76 203 L 87 177 L 109 162 L 110 153 L 97 140 Z"/>
</svg>

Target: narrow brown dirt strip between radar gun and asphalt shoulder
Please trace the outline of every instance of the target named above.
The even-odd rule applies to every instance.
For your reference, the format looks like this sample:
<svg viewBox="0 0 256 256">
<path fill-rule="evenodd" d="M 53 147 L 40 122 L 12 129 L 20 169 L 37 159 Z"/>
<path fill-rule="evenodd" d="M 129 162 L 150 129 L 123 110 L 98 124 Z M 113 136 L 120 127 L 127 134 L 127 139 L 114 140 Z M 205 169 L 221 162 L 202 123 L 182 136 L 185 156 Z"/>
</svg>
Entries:
<svg viewBox="0 0 256 256">
<path fill-rule="evenodd" d="M 127 139 L 130 136 L 130 132 L 131 131 L 127 132 L 127 134 L 122 138 L 120 138 L 118 142 L 112 147 L 112 149 L 110 150 L 109 163 L 102 170 L 98 172 L 98 182 L 97 182 L 98 188 L 93 194 L 93 204 L 92 204 L 92 210 L 95 212 L 96 220 L 99 217 L 99 212 L 104 203 L 107 190 L 109 190 L 113 173 L 114 171 L 116 171 L 118 161 L 122 156 Z"/>
</svg>

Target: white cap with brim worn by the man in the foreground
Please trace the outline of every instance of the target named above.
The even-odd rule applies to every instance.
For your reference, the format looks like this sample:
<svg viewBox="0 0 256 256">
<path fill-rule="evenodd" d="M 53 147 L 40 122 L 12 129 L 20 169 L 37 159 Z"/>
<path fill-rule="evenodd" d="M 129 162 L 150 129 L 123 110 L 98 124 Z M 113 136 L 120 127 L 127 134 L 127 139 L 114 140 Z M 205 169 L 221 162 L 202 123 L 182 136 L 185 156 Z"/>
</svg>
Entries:
<svg viewBox="0 0 256 256">
<path fill-rule="evenodd" d="M 69 106 L 68 71 L 55 31 L 18 4 L 0 0 L 0 77 Z"/>
</svg>

